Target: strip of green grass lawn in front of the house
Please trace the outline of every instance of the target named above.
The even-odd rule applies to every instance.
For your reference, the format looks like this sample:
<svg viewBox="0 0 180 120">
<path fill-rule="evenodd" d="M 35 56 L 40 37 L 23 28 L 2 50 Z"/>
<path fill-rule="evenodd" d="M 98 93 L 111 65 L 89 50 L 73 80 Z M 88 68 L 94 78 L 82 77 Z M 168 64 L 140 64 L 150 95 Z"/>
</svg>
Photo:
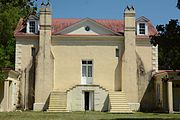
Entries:
<svg viewBox="0 0 180 120">
<path fill-rule="evenodd" d="M 180 114 L 133 113 L 111 114 L 104 112 L 8 112 L 0 113 L 0 120 L 180 120 Z"/>
</svg>

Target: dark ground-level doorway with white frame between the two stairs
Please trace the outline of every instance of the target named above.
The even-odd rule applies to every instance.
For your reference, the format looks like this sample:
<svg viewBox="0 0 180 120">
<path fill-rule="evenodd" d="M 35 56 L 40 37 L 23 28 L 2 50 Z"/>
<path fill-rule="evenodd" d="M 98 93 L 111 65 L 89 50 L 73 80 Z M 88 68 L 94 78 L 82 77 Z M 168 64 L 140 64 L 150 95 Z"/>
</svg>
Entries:
<svg viewBox="0 0 180 120">
<path fill-rule="evenodd" d="M 93 97 L 94 92 L 85 91 L 84 92 L 84 110 L 85 111 L 92 111 L 93 110 Z"/>
</svg>

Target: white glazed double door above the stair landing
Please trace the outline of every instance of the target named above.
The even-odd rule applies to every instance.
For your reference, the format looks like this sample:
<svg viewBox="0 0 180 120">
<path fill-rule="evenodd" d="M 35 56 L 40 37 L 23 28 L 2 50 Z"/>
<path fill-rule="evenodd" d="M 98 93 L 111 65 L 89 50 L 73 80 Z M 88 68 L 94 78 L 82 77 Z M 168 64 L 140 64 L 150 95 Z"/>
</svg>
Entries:
<svg viewBox="0 0 180 120">
<path fill-rule="evenodd" d="M 93 63 L 91 60 L 82 61 L 81 84 L 92 84 Z"/>
</svg>

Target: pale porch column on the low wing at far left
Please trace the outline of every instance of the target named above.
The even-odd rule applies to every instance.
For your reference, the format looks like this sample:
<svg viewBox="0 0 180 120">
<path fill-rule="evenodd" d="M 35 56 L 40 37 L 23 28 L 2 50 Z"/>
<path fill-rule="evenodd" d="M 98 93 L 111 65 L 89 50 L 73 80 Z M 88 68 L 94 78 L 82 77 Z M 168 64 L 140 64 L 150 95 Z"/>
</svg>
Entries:
<svg viewBox="0 0 180 120">
<path fill-rule="evenodd" d="M 4 81 L 4 99 L 3 99 L 4 111 L 9 111 L 9 80 Z"/>
</svg>

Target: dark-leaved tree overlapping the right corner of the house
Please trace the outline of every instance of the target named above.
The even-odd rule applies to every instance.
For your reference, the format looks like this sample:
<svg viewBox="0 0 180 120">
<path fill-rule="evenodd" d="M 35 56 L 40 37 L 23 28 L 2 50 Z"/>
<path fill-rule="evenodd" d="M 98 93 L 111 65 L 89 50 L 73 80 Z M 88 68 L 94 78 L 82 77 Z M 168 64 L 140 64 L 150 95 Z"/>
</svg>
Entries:
<svg viewBox="0 0 180 120">
<path fill-rule="evenodd" d="M 180 69 L 180 25 L 178 20 L 170 20 L 166 25 L 158 25 L 158 36 L 151 43 L 159 46 L 159 69 Z"/>
</svg>

